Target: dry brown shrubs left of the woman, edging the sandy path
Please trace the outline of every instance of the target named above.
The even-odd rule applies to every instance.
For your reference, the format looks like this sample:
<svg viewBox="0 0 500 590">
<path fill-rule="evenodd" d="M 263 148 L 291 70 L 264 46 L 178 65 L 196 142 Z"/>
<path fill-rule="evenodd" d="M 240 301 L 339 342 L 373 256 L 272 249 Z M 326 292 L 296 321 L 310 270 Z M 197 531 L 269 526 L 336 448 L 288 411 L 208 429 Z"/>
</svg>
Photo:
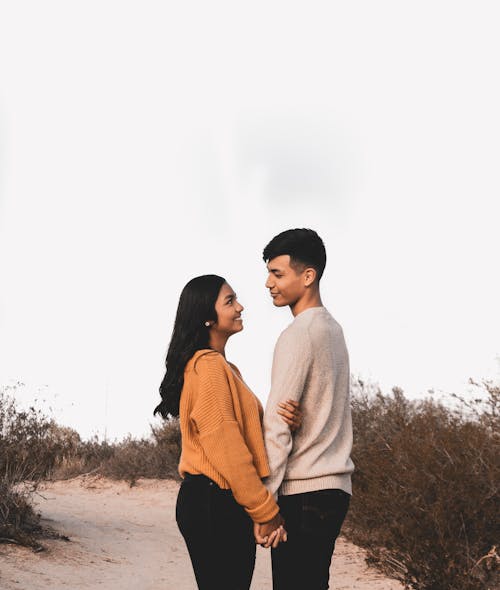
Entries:
<svg viewBox="0 0 500 590">
<path fill-rule="evenodd" d="M 152 427 L 150 438 L 82 441 L 34 407 L 19 409 L 13 397 L 19 386 L 0 388 L 0 542 L 39 547 L 33 535 L 42 530 L 31 502 L 42 479 L 94 472 L 133 485 L 140 477 L 178 478 L 177 420 Z"/>
</svg>

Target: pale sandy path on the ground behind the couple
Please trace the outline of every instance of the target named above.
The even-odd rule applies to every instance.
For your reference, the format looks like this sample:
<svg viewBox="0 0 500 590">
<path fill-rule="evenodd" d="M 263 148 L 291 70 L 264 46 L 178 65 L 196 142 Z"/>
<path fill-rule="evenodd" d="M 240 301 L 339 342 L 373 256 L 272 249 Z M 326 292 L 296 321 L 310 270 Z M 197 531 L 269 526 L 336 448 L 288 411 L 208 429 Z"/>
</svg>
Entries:
<svg viewBox="0 0 500 590">
<path fill-rule="evenodd" d="M 125 483 L 77 478 L 47 485 L 37 505 L 44 524 L 70 537 L 45 541 L 34 553 L 0 545 L 1 590 L 191 590 L 189 557 L 174 520 L 178 485 L 164 480 Z M 257 548 L 252 590 L 271 590 L 269 551 Z M 337 541 L 330 587 L 401 590 L 368 568 L 364 553 Z"/>
</svg>

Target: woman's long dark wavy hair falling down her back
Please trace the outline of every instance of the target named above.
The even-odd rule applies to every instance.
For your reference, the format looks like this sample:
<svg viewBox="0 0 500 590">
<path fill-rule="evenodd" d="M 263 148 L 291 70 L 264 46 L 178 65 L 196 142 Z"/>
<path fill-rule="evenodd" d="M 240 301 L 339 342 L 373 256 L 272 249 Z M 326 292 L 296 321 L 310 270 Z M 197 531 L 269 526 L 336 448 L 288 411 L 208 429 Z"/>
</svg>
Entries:
<svg viewBox="0 0 500 590">
<path fill-rule="evenodd" d="M 182 290 L 165 361 L 166 373 L 160 385 L 162 401 L 154 414 L 163 418 L 179 415 L 184 368 L 197 350 L 210 348 L 205 322 L 217 321 L 215 302 L 225 282 L 217 275 L 202 275 L 191 279 Z"/>
</svg>

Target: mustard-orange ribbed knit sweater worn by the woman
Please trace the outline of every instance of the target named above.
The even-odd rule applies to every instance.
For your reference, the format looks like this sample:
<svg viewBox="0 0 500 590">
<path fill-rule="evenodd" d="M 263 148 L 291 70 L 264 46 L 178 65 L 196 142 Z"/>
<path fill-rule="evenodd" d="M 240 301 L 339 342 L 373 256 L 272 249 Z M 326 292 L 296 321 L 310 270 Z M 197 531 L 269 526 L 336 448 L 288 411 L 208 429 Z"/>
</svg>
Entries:
<svg viewBox="0 0 500 590">
<path fill-rule="evenodd" d="M 199 350 L 184 370 L 180 400 L 179 473 L 203 474 L 231 489 L 254 522 L 278 513 L 262 483 L 269 475 L 262 436 L 263 409 L 237 367 L 213 350 Z"/>
</svg>

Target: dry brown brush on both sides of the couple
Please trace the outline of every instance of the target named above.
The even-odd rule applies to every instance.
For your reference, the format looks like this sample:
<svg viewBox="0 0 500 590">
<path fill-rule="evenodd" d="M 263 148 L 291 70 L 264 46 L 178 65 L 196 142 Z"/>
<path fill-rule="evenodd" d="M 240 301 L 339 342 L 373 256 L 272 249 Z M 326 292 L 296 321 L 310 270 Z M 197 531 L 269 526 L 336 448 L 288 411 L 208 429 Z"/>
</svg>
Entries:
<svg viewBox="0 0 500 590">
<path fill-rule="evenodd" d="M 461 410 L 412 402 L 357 383 L 353 395 L 354 495 L 347 536 L 372 563 L 413 590 L 498 587 L 500 389 L 481 385 Z M 97 473 L 133 485 L 177 478 L 178 421 L 149 438 L 82 441 L 0 391 L 0 538 L 33 544 L 30 495 L 42 478 Z M 28 487 L 19 483 L 29 479 Z"/>
</svg>

